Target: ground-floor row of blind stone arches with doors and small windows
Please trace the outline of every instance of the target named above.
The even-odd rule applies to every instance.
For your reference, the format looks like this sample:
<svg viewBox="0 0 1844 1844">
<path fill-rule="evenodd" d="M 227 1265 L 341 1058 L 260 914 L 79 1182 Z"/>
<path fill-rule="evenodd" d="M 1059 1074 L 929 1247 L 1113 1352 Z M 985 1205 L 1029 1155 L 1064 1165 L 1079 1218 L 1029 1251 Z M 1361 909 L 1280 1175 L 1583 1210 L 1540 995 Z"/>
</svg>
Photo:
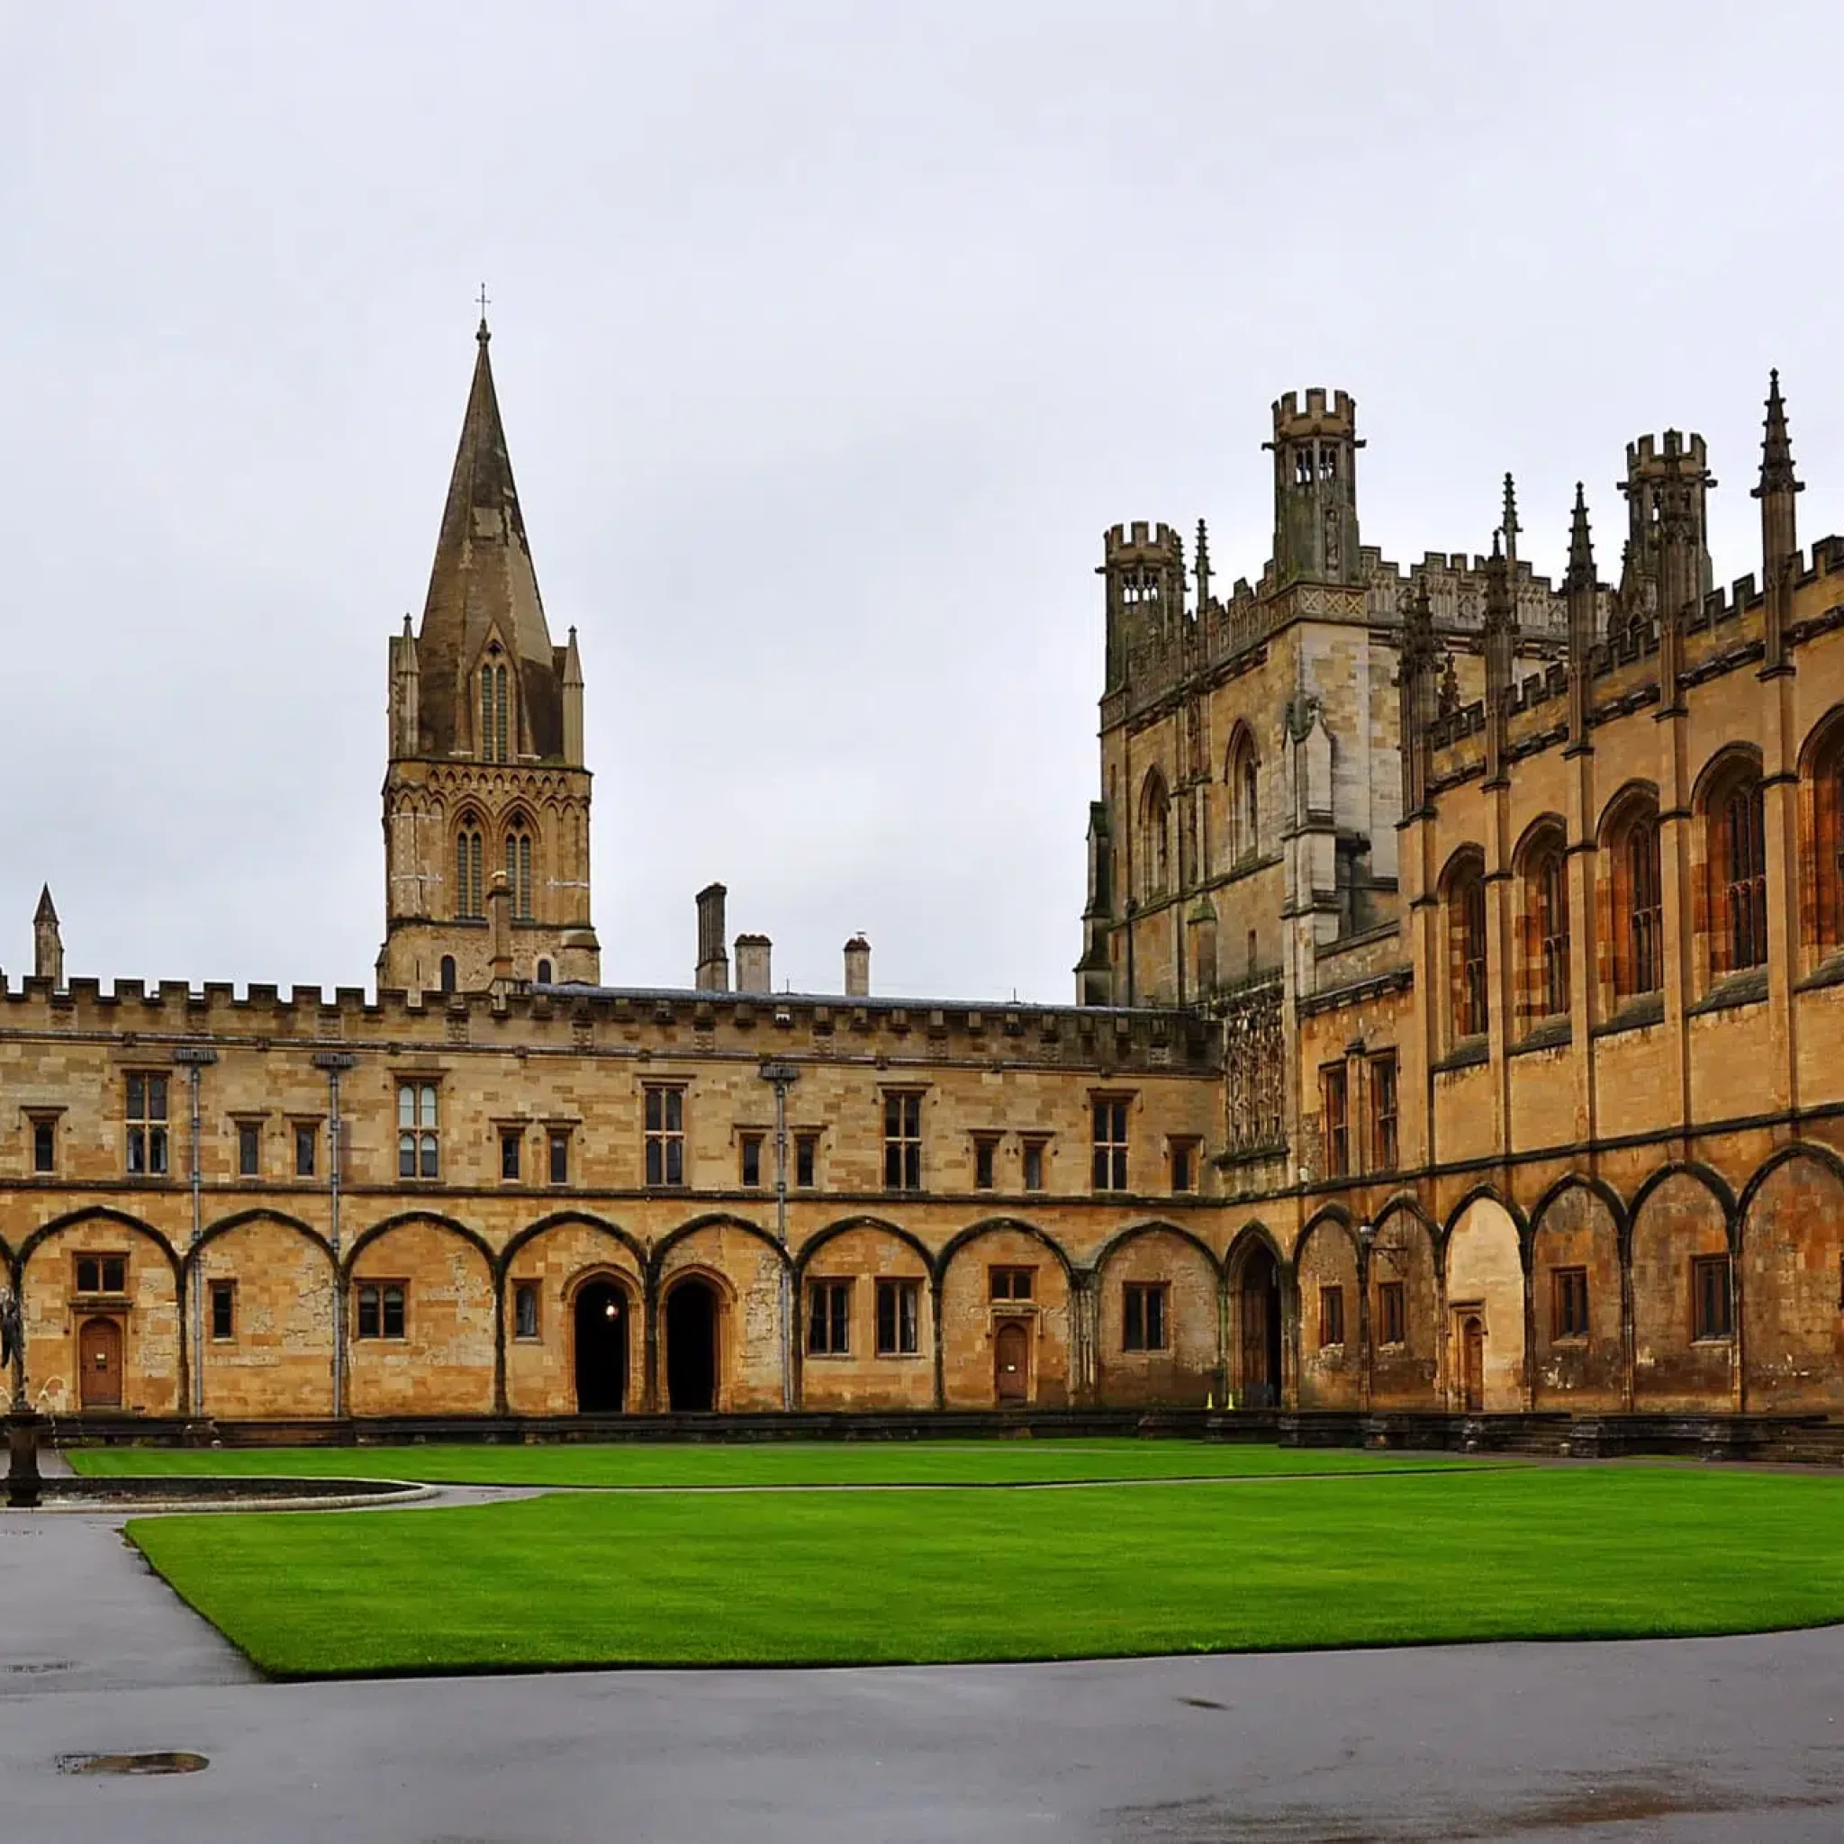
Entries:
<svg viewBox="0 0 1844 1844">
<path fill-rule="evenodd" d="M 1566 1175 L 1529 1206 L 1481 1186 L 1444 1221 L 1400 1193 L 1366 1223 L 1324 1206 L 1291 1248 L 1248 1221 L 1221 1254 L 1171 1221 L 1079 1258 L 1018 1217 L 935 1247 L 845 1217 L 784 1252 L 741 1217 L 647 1245 L 583 1212 L 494 1248 L 408 1212 L 336 1263 L 275 1212 L 181 1254 L 92 1208 L 0 1256 L 53 1413 L 1844 1405 L 1844 1160 L 1816 1141 L 1739 1186 L 1700 1164 L 1626 1195 Z"/>
</svg>

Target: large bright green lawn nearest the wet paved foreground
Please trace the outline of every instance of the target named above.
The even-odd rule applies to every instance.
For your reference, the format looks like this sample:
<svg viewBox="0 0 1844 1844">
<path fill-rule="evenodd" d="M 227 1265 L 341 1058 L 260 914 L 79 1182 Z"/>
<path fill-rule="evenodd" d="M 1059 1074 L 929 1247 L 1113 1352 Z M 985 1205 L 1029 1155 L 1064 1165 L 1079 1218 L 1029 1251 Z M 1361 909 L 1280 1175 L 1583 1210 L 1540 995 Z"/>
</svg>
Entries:
<svg viewBox="0 0 1844 1844">
<path fill-rule="evenodd" d="M 1844 1479 L 1481 1468 L 142 1518 L 282 1676 L 1095 1658 L 1844 1619 Z"/>
</svg>

